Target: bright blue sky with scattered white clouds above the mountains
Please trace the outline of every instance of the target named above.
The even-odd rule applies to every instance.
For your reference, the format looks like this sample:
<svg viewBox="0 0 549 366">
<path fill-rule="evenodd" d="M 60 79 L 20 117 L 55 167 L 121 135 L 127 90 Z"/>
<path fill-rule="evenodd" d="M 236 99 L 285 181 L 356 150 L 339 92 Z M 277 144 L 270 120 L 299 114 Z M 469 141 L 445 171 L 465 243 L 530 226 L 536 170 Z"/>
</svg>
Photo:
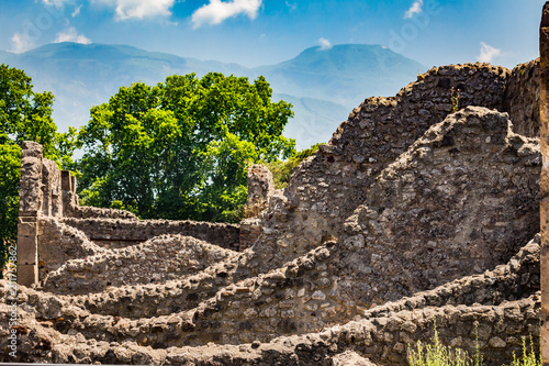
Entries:
<svg viewBox="0 0 549 366">
<path fill-rule="evenodd" d="M 0 49 L 128 44 L 248 67 L 381 44 L 423 65 L 538 57 L 544 0 L 0 0 Z"/>
</svg>

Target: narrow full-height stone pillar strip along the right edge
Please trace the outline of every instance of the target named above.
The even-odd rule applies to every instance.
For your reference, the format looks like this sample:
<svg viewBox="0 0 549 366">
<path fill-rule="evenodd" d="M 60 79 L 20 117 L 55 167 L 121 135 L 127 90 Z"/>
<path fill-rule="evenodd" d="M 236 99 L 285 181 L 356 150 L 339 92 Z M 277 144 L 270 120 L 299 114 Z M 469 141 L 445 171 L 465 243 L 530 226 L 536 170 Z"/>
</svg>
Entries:
<svg viewBox="0 0 549 366">
<path fill-rule="evenodd" d="M 540 229 L 541 229 L 541 357 L 549 365 L 549 1 L 544 5 L 539 29 L 540 54 L 540 145 L 544 166 L 540 179 Z"/>
</svg>

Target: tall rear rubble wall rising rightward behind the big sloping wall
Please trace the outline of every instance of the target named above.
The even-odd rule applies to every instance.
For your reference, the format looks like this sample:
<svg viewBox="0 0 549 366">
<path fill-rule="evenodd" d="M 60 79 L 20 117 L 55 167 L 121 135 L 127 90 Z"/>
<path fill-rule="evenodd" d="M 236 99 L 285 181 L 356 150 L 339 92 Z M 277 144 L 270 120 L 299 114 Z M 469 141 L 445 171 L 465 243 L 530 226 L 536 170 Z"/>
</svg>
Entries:
<svg viewBox="0 0 549 366">
<path fill-rule="evenodd" d="M 294 170 L 284 193 L 271 198 L 259 240 L 271 263 L 276 266 L 304 253 L 327 235 L 338 237 L 343 222 L 363 202 L 377 175 L 453 109 L 505 110 L 509 75 L 486 64 L 438 67 L 396 97 L 367 99 L 328 144 Z M 516 107 L 518 101 L 507 104 Z M 530 123 L 523 120 L 520 126 Z"/>
</svg>

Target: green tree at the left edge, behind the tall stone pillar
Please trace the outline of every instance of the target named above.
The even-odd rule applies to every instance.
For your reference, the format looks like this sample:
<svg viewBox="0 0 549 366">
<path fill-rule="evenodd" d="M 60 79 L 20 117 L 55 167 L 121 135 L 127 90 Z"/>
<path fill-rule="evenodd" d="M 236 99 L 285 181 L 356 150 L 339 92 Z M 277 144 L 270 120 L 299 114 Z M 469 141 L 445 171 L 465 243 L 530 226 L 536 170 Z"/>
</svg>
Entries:
<svg viewBox="0 0 549 366">
<path fill-rule="evenodd" d="M 0 267 L 5 262 L 4 244 L 18 235 L 21 143 L 35 141 L 43 145 L 45 157 L 71 162 L 75 130 L 57 133 L 53 102 L 51 92 L 33 91 L 23 70 L 0 65 Z"/>
</svg>

